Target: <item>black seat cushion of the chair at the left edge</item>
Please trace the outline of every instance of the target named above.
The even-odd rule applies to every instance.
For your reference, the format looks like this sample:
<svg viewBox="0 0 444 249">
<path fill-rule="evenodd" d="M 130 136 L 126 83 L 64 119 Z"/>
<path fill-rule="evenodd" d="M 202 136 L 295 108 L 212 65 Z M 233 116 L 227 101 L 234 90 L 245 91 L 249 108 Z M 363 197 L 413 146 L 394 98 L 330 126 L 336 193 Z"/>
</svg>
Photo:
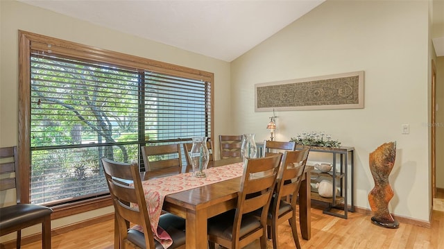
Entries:
<svg viewBox="0 0 444 249">
<path fill-rule="evenodd" d="M 0 208 L 0 230 L 51 215 L 53 209 L 34 204 L 18 204 Z"/>
</svg>

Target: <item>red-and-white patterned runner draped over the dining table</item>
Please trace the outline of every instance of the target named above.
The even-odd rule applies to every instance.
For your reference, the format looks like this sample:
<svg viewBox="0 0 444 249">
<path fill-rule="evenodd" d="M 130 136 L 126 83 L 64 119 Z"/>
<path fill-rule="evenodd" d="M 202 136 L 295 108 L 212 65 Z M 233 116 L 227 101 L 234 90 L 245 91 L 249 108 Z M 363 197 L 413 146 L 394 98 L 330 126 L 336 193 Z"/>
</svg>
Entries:
<svg viewBox="0 0 444 249">
<path fill-rule="evenodd" d="M 169 234 L 162 227 L 158 226 L 165 196 L 240 177 L 244 173 L 243 165 L 242 162 L 238 162 L 206 169 L 206 178 L 194 178 L 190 172 L 142 181 L 142 188 L 144 189 L 146 205 L 150 215 L 151 230 L 155 240 L 159 241 L 164 248 L 169 248 L 173 243 Z M 137 205 L 134 206 L 137 207 Z M 132 228 L 143 232 L 142 227 L 139 225 Z"/>
</svg>

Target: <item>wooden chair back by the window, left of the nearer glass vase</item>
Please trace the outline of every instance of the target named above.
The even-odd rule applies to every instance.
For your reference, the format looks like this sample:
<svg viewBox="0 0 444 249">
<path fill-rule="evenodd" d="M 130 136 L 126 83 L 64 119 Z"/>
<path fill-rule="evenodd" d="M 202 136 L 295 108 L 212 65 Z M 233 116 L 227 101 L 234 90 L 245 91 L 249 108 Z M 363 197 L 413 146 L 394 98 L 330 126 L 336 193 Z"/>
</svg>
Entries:
<svg viewBox="0 0 444 249">
<path fill-rule="evenodd" d="M 142 146 L 145 171 L 149 177 L 182 173 L 180 144 Z"/>
</svg>

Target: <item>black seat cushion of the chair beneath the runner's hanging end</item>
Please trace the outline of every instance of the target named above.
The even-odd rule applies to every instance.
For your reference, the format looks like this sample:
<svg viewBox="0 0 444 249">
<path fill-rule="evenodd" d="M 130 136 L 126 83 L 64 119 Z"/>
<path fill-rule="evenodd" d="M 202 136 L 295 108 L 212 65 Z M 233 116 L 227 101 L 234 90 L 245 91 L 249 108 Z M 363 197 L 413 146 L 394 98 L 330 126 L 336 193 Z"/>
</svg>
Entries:
<svg viewBox="0 0 444 249">
<path fill-rule="evenodd" d="M 159 218 L 159 226 L 162 227 L 173 239 L 173 244 L 169 248 L 177 248 L 185 244 L 185 219 L 174 214 L 162 214 Z M 150 231 L 151 232 L 151 231 Z M 138 230 L 128 230 L 128 241 L 131 241 L 139 248 L 146 248 L 145 237 Z M 162 245 L 155 241 L 156 249 L 163 249 Z"/>
</svg>

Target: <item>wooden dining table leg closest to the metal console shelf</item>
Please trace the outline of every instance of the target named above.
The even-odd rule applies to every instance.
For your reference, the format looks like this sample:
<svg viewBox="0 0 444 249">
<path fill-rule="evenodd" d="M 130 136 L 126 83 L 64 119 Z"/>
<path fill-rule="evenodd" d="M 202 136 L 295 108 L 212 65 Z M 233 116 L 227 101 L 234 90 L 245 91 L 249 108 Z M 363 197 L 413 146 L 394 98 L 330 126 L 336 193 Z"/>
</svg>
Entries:
<svg viewBox="0 0 444 249">
<path fill-rule="evenodd" d="M 299 189 L 299 225 L 302 239 L 311 238 L 311 186 L 310 172 L 305 172 Z"/>
</svg>

